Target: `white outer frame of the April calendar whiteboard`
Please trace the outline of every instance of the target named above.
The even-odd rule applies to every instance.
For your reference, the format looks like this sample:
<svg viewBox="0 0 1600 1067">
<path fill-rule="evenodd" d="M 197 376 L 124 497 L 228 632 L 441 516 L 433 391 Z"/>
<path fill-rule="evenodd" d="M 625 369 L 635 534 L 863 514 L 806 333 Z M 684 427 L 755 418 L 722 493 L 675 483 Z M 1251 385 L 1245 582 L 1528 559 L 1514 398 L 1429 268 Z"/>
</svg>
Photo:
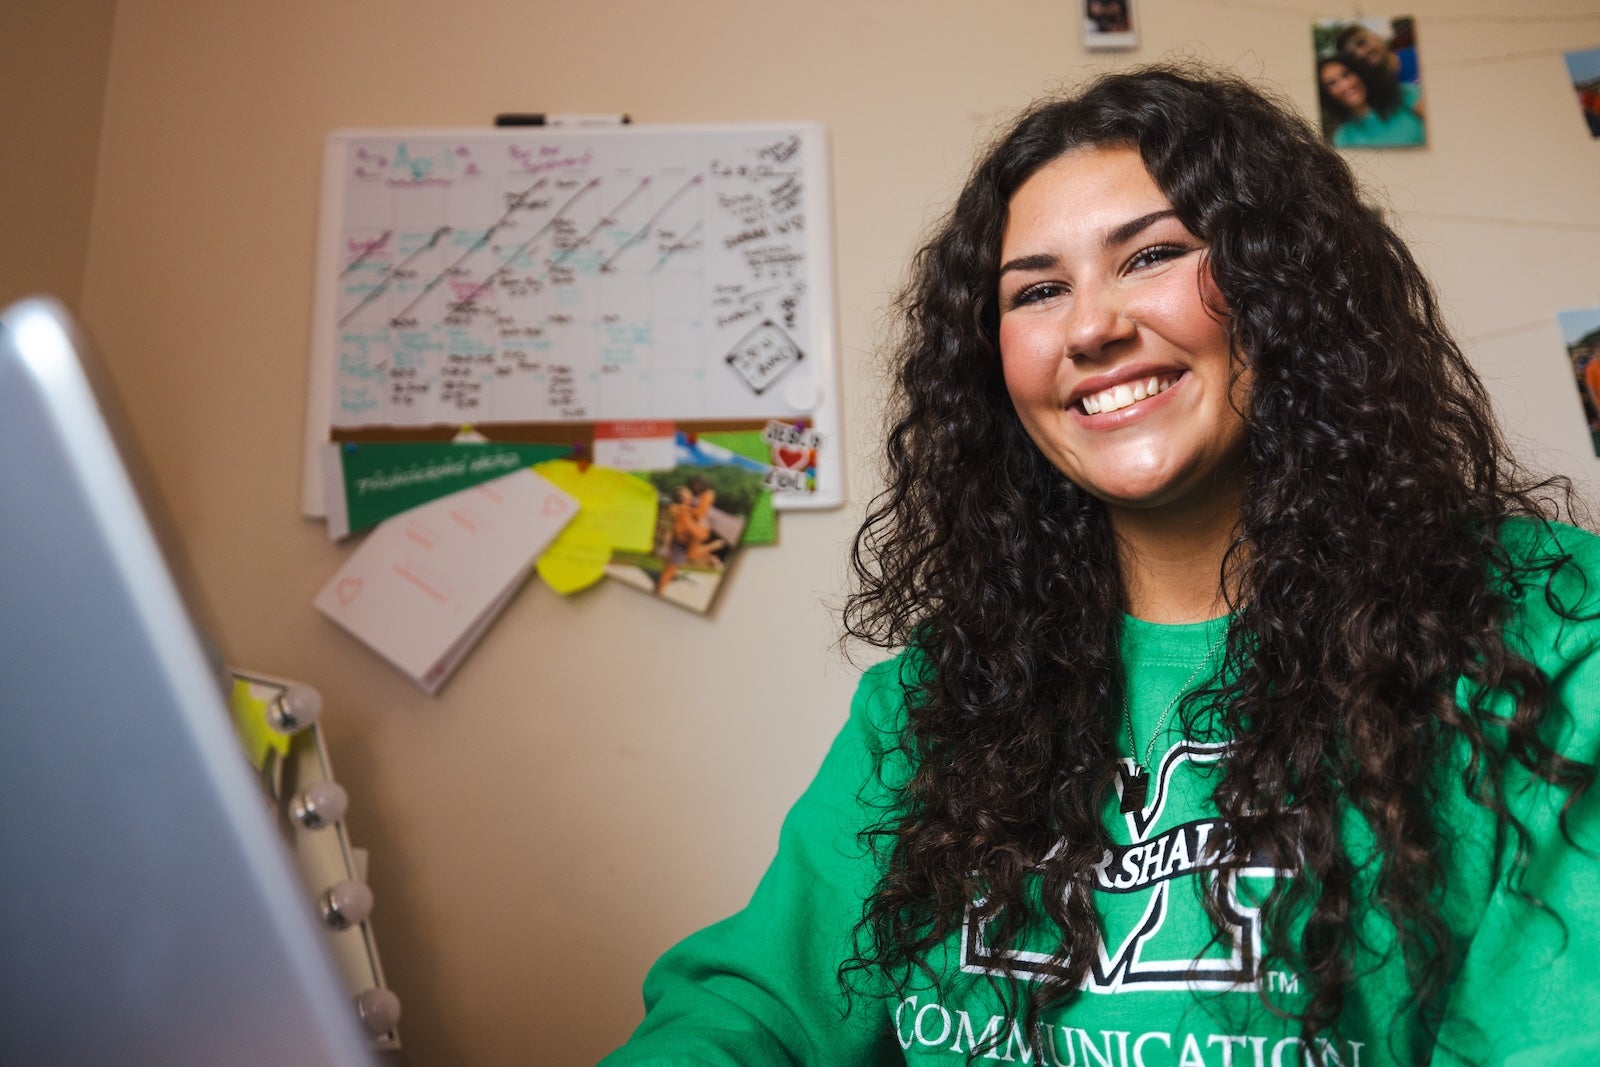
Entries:
<svg viewBox="0 0 1600 1067">
<path fill-rule="evenodd" d="M 816 490 L 811 493 L 774 493 L 773 502 L 782 510 L 821 510 L 845 502 L 845 438 L 843 397 L 838 368 L 838 310 L 834 264 L 834 198 L 832 152 L 827 130 L 818 122 L 739 122 L 739 123 L 648 123 L 616 126 L 389 126 L 334 130 L 323 142 L 322 189 L 317 216 L 317 261 L 312 291 L 310 360 L 306 387 L 306 453 L 301 469 L 301 512 L 307 518 L 325 518 L 323 448 L 333 440 L 333 362 L 331 338 L 338 315 L 339 222 L 344 216 L 344 146 L 358 139 L 400 138 L 499 138 L 507 141 L 528 136 L 629 138 L 642 131 L 656 134 L 718 133 L 798 133 L 805 138 L 806 195 L 806 296 L 811 307 L 813 371 L 819 397 L 811 410 L 811 426 L 822 435 L 818 450 Z M 603 422 L 603 414 L 589 422 L 549 422 L 549 426 L 586 426 Z M 755 419 L 744 419 L 746 422 Z M 429 424 L 432 427 L 448 424 Z M 493 426 L 485 422 L 485 426 Z M 427 427 L 416 427 L 427 429 Z"/>
</svg>

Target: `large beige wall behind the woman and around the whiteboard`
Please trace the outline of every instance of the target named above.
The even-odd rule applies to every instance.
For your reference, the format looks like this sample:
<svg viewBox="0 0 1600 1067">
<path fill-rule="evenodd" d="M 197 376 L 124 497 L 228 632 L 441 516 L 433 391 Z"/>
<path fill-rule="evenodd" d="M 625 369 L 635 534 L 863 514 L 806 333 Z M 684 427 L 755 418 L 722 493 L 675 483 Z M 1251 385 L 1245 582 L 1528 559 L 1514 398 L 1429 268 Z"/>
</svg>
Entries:
<svg viewBox="0 0 1600 1067">
<path fill-rule="evenodd" d="M 650 960 L 747 897 L 853 686 L 826 601 L 874 486 L 885 296 L 974 142 L 1051 85 L 1170 54 L 1312 104 L 1302 5 L 1144 0 L 1144 46 L 1112 58 L 1082 51 L 1072 8 L 117 5 L 83 312 L 224 646 L 328 697 L 413 1064 L 592 1062 L 635 1024 Z M 1357 165 L 1533 459 L 1592 494 L 1554 310 L 1600 304 L 1600 142 L 1560 64 L 1600 45 L 1600 18 L 1592 0 L 1504 8 L 1408 5 L 1435 146 Z M 853 504 L 786 517 L 710 619 L 528 587 L 430 699 L 310 608 L 347 552 L 298 514 L 320 141 L 541 109 L 829 126 Z"/>
</svg>

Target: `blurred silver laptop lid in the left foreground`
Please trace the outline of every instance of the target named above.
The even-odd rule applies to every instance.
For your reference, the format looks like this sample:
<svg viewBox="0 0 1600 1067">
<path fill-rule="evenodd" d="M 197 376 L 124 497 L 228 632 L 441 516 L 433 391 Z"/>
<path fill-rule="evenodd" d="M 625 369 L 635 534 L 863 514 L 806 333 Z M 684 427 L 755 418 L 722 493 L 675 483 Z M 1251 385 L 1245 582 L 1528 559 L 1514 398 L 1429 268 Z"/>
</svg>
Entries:
<svg viewBox="0 0 1600 1067">
<path fill-rule="evenodd" d="M 0 312 L 0 1064 L 370 1064 L 86 363 Z"/>
</svg>

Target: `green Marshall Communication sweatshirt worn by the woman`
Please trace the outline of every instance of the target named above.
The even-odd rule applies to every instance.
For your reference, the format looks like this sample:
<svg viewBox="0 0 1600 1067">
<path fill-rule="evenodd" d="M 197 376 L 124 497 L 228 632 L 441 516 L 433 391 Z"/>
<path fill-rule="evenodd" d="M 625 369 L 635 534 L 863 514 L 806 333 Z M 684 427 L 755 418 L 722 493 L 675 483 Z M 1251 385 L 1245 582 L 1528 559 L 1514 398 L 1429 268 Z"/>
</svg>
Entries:
<svg viewBox="0 0 1600 1067">
<path fill-rule="evenodd" d="M 1581 574 L 1565 571 L 1552 592 L 1568 608 L 1600 613 L 1600 539 L 1531 523 L 1507 544 L 1558 539 Z M 1530 544 L 1531 547 L 1531 544 Z M 1128 619 L 1123 662 L 1142 760 L 1168 702 L 1184 688 L 1226 625 L 1157 625 Z M 1600 621 L 1557 616 L 1539 590 L 1523 601 L 1509 638 L 1552 680 L 1550 739 L 1568 757 L 1600 757 Z M 1149 761 L 1142 809 L 1123 814 L 1112 800 L 1106 824 L 1115 848 L 1096 867 L 1101 952 L 1085 995 L 1062 1006 L 1029 1041 L 1003 1019 L 994 974 L 1021 979 L 1048 966 L 1038 952 L 990 947 L 968 921 L 930 960 L 936 982 L 901 993 L 883 985 L 846 1001 L 837 969 L 850 955 L 853 925 L 878 867 L 858 841 L 882 819 L 886 787 L 872 752 L 902 721 L 901 659 L 866 673 L 850 721 L 816 781 L 795 803 L 778 857 L 749 907 L 669 950 L 645 979 L 646 1016 L 626 1046 L 603 1061 L 635 1064 L 962 1064 L 974 1043 L 1002 1035 L 976 1062 L 1042 1067 L 1299 1067 L 1310 1062 L 1298 1024 L 1262 1008 L 1294 1003 L 1296 974 L 1258 966 L 1261 929 L 1253 902 L 1290 872 L 1221 872 L 1227 827 L 1211 805 L 1226 745 L 1186 741 L 1168 717 Z M 1122 739 L 1126 753 L 1126 737 Z M 904 768 L 890 768 L 890 777 Z M 1450 781 L 1459 784 L 1459 774 Z M 1360 913 L 1363 955 L 1325 1062 L 1382 1067 L 1416 1062 L 1582 1064 L 1600 1056 L 1600 790 L 1570 813 L 1574 849 L 1558 830 L 1565 795 L 1509 771 L 1507 797 L 1533 837 L 1525 888 L 1560 918 L 1538 910 L 1496 880 L 1493 817 L 1464 793 L 1450 795 L 1442 825 L 1456 833 L 1446 862 L 1443 912 L 1466 947 L 1437 1045 L 1405 1011 L 1405 966 L 1390 952 L 1394 926 L 1376 909 Z M 1365 822 L 1347 827 L 1352 856 L 1371 854 Z M 1373 864 L 1366 865 L 1370 875 Z M 1200 905 L 1202 880 L 1232 880 L 1229 929 L 1213 936 Z M 1370 883 L 1370 877 L 1368 877 Z"/>
</svg>

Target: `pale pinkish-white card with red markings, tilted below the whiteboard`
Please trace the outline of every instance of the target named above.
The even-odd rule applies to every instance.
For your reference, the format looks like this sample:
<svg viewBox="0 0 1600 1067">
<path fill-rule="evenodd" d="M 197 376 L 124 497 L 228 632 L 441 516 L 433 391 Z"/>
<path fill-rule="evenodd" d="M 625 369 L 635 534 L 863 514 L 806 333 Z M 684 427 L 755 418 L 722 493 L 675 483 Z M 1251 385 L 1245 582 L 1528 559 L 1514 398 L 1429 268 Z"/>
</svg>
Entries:
<svg viewBox="0 0 1600 1067">
<path fill-rule="evenodd" d="M 574 498 L 512 472 L 381 523 L 314 603 L 437 693 L 574 515 Z"/>
</svg>

